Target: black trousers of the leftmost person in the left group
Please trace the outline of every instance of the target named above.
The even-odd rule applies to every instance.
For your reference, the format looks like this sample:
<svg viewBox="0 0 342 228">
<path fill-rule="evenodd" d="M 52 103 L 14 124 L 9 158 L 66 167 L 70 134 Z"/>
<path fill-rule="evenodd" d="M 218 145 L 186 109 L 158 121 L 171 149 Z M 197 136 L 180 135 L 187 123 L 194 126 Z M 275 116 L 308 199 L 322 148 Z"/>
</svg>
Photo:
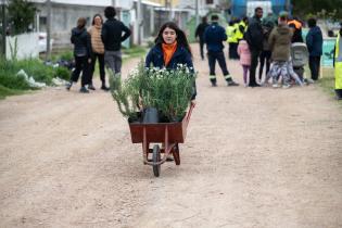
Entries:
<svg viewBox="0 0 342 228">
<path fill-rule="evenodd" d="M 77 83 L 80 72 L 80 86 L 84 87 L 89 84 L 89 63 L 87 56 L 75 56 L 75 69 L 71 80 Z"/>
</svg>

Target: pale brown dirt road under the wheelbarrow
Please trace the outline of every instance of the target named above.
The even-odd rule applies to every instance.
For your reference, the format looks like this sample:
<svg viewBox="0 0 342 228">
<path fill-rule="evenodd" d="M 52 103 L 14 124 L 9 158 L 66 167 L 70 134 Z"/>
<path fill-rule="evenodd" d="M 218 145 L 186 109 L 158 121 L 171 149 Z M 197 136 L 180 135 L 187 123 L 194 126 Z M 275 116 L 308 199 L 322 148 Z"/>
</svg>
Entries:
<svg viewBox="0 0 342 228">
<path fill-rule="evenodd" d="M 160 178 L 110 93 L 50 88 L 0 101 L 0 227 L 342 227 L 337 102 L 317 86 L 228 88 L 220 74 L 212 88 L 197 48 L 181 165 Z"/>
</svg>

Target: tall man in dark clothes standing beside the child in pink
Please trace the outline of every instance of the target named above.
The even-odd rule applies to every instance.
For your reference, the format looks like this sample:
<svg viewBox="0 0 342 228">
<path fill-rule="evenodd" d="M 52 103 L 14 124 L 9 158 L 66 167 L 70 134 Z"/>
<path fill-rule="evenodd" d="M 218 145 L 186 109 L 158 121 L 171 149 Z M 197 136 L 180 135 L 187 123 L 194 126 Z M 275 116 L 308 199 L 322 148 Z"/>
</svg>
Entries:
<svg viewBox="0 0 342 228">
<path fill-rule="evenodd" d="M 250 25 L 245 33 L 245 40 L 248 41 L 251 50 L 251 71 L 250 71 L 250 87 L 258 87 L 259 85 L 256 84 L 255 80 L 255 72 L 258 63 L 258 58 L 263 50 L 263 40 L 264 40 L 264 33 L 262 27 L 263 17 L 263 9 L 255 8 L 254 16 L 250 21 Z"/>
</svg>

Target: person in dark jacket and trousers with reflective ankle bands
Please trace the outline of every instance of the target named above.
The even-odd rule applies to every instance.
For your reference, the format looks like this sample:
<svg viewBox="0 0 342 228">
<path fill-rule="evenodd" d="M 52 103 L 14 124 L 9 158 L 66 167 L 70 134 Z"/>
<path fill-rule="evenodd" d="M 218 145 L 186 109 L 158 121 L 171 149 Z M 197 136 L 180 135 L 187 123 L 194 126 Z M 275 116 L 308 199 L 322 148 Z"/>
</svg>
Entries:
<svg viewBox="0 0 342 228">
<path fill-rule="evenodd" d="M 216 87 L 216 75 L 215 75 L 215 64 L 216 60 L 219 67 L 223 71 L 227 86 L 239 86 L 235 83 L 227 69 L 226 59 L 224 54 L 224 45 L 223 42 L 227 40 L 226 30 L 224 27 L 218 25 L 218 16 L 212 15 L 212 24 L 206 27 L 204 31 L 204 41 L 207 49 L 207 58 L 210 65 L 210 80 L 213 87 Z"/>
</svg>

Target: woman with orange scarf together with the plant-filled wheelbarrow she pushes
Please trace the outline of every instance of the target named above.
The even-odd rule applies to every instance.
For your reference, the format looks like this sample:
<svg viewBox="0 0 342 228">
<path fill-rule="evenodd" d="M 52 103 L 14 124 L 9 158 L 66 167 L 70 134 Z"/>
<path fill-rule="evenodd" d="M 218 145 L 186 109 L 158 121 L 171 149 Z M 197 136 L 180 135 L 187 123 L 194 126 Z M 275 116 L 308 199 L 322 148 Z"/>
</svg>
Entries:
<svg viewBox="0 0 342 228">
<path fill-rule="evenodd" d="M 121 84 L 119 77 L 113 79 L 112 96 L 121 112 L 128 116 L 132 143 L 142 143 L 143 163 L 153 167 L 156 177 L 168 157 L 173 156 L 179 165 L 178 143 L 185 141 L 197 96 L 185 33 L 175 23 L 164 24 L 144 66 L 140 64 L 125 84 Z M 135 111 L 137 106 L 140 112 Z M 151 143 L 156 144 L 150 148 Z"/>
</svg>

